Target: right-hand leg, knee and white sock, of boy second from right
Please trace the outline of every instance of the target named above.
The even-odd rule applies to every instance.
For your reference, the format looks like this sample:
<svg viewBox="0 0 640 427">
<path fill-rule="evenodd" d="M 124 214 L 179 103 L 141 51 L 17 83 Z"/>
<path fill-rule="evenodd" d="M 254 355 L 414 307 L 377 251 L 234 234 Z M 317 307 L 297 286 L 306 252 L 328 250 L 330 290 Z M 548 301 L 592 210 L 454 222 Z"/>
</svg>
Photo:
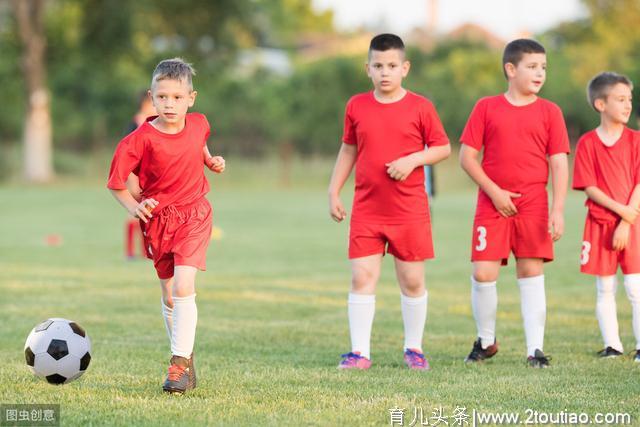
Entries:
<svg viewBox="0 0 640 427">
<path fill-rule="evenodd" d="M 547 303 L 542 258 L 517 258 L 516 274 L 520 288 L 520 308 L 527 342 L 527 356 L 542 351 Z"/>
</svg>

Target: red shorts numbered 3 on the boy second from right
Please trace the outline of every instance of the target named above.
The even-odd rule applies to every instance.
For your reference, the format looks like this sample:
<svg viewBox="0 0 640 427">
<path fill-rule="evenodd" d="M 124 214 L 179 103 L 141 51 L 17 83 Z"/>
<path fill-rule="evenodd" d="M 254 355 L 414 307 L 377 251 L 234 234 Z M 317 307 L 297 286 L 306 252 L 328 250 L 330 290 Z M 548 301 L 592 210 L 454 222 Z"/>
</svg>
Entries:
<svg viewBox="0 0 640 427">
<path fill-rule="evenodd" d="M 475 218 L 471 241 L 471 261 L 501 261 L 507 265 L 509 254 L 516 258 L 553 260 L 553 241 L 549 220 L 522 216 Z"/>
</svg>

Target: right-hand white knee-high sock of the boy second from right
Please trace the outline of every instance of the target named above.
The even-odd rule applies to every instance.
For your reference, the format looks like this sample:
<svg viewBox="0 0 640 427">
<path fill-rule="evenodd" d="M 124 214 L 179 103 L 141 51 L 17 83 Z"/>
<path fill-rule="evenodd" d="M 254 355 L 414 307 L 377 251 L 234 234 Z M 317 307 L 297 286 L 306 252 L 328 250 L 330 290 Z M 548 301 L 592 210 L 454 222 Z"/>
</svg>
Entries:
<svg viewBox="0 0 640 427">
<path fill-rule="evenodd" d="M 527 341 L 527 355 L 533 356 L 544 345 L 544 325 L 547 318 L 547 301 L 544 292 L 544 274 L 518 279 L 520 310 Z"/>
</svg>

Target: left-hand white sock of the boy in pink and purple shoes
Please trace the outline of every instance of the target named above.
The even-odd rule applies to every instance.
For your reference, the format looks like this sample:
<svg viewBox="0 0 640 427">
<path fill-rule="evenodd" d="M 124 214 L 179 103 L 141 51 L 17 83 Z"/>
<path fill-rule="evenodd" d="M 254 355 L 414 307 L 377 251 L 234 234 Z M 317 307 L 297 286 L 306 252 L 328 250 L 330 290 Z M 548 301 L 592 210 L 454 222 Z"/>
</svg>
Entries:
<svg viewBox="0 0 640 427">
<path fill-rule="evenodd" d="M 371 359 L 371 327 L 376 312 L 376 296 L 349 293 L 351 351 Z"/>
</svg>

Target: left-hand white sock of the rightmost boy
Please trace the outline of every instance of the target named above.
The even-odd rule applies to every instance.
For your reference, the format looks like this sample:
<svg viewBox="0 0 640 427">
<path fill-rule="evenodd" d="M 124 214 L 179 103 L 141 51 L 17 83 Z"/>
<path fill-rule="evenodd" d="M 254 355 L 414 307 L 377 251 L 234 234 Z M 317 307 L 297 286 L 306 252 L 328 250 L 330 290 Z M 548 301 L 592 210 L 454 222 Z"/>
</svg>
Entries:
<svg viewBox="0 0 640 427">
<path fill-rule="evenodd" d="M 600 325 L 604 346 L 613 347 L 622 352 L 624 350 L 618 334 L 617 289 L 616 276 L 596 277 L 596 317 Z"/>
</svg>

